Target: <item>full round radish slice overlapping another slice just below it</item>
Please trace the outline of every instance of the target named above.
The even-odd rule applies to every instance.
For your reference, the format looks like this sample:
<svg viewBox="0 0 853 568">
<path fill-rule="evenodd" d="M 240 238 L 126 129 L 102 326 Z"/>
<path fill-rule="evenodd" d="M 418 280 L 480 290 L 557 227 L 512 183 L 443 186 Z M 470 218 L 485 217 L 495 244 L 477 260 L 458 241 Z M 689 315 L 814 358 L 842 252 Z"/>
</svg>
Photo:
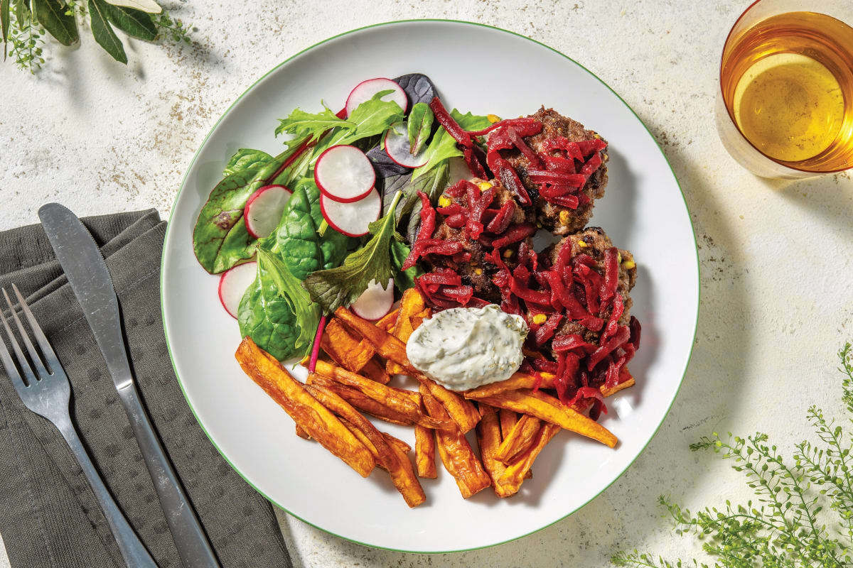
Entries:
<svg viewBox="0 0 853 568">
<path fill-rule="evenodd" d="M 326 197 L 349 204 L 368 195 L 376 172 L 356 146 L 332 146 L 317 158 L 314 181 Z"/>
</svg>

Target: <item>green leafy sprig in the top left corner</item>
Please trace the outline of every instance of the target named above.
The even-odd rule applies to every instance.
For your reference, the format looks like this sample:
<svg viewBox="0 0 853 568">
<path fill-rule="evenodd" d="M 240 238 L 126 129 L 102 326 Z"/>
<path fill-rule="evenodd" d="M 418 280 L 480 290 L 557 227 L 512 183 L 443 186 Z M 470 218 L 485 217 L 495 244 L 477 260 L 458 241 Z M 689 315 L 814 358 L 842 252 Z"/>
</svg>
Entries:
<svg viewBox="0 0 853 568">
<path fill-rule="evenodd" d="M 190 43 L 188 26 L 154 0 L 0 0 L 3 60 L 11 56 L 20 69 L 38 72 L 45 62 L 44 35 L 72 46 L 80 41 L 78 25 L 86 24 L 87 15 L 96 43 L 125 64 L 127 54 L 116 30 L 148 42 L 165 36 Z"/>
</svg>

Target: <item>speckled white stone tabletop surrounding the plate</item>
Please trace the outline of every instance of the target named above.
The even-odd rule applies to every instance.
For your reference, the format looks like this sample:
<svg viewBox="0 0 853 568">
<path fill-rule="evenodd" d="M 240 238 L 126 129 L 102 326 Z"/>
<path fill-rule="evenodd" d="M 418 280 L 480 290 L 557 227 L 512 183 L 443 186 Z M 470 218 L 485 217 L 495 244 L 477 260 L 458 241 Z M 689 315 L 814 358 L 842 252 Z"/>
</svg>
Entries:
<svg viewBox="0 0 853 568">
<path fill-rule="evenodd" d="M 364 548 L 281 513 L 296 565 L 601 566 L 635 547 L 702 558 L 695 540 L 670 532 L 657 497 L 695 509 L 746 501 L 749 490 L 728 463 L 688 444 L 714 430 L 762 430 L 788 451 L 813 438 L 809 404 L 840 416 L 835 352 L 853 339 L 853 181 L 763 181 L 723 150 L 713 117 L 718 57 L 746 0 L 165 5 L 197 27 L 196 46 L 125 42 L 124 67 L 84 37 L 79 49 L 51 49 L 38 77 L 0 66 L 0 230 L 37 222 L 39 205 L 53 200 L 79 215 L 154 206 L 167 216 L 207 131 L 272 66 L 354 27 L 449 18 L 547 43 L 611 85 L 670 159 L 699 241 L 699 333 L 682 391 L 604 494 L 520 541 L 435 556 Z"/>
</svg>

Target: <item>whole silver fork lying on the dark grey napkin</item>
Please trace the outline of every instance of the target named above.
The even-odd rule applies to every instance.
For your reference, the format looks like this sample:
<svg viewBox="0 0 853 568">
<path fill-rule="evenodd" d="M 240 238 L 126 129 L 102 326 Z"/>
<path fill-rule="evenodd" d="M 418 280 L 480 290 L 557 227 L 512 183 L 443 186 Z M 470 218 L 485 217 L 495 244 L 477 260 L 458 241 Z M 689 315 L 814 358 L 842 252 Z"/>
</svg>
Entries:
<svg viewBox="0 0 853 568">
<path fill-rule="evenodd" d="M 62 437 L 68 443 L 74 457 L 83 468 L 83 473 L 86 474 L 86 479 L 89 479 L 92 491 L 100 503 L 104 516 L 107 518 L 107 523 L 110 530 L 113 531 L 116 542 L 119 544 L 119 550 L 125 563 L 131 568 L 137 566 L 143 568 L 157 568 L 154 564 L 154 559 L 148 554 L 148 550 L 142 545 L 142 542 L 136 536 L 136 533 L 131 528 L 131 525 L 125 519 L 125 515 L 121 513 L 119 506 L 113 500 L 104 485 L 101 475 L 98 474 L 95 464 L 92 463 L 89 454 L 83 446 L 78 436 L 77 429 L 71 422 L 71 414 L 68 410 L 68 403 L 71 400 L 71 384 L 68 382 L 68 376 L 59 359 L 56 358 L 56 353 L 48 338 L 44 336 L 44 331 L 36 322 L 36 318 L 32 316 L 30 308 L 26 305 L 24 298 L 20 295 L 20 291 L 15 284 L 12 284 L 12 290 L 15 291 L 15 297 L 20 303 L 21 311 L 29 322 L 32 330 L 32 335 L 36 338 L 38 347 L 41 348 L 44 354 L 44 362 L 38 356 L 36 348 L 33 347 L 30 337 L 26 334 L 23 324 L 21 324 L 18 314 L 15 312 L 15 307 L 9 301 L 9 294 L 3 289 L 3 297 L 9 305 L 9 311 L 12 313 L 12 319 L 15 320 L 15 326 L 18 328 L 21 340 L 26 346 L 26 352 L 30 355 L 30 361 L 35 366 L 35 373 L 32 372 L 32 367 L 27 362 L 24 353 L 20 349 L 18 341 L 15 340 L 15 335 L 9 329 L 9 323 L 0 312 L 0 319 L 3 320 L 3 328 L 6 330 L 6 335 L 9 336 L 9 343 L 12 345 L 12 350 L 15 352 L 15 359 L 18 360 L 19 367 L 15 367 L 12 362 L 12 356 L 9 354 L 9 349 L 0 340 L 0 361 L 3 361 L 3 367 L 12 379 L 12 384 L 15 385 L 15 390 L 18 391 L 20 399 L 26 404 L 26 408 L 32 410 L 39 416 L 44 416 L 60 431 Z M 46 365 L 45 365 L 46 364 Z M 26 377 L 26 382 L 21 378 L 20 372 Z"/>
</svg>

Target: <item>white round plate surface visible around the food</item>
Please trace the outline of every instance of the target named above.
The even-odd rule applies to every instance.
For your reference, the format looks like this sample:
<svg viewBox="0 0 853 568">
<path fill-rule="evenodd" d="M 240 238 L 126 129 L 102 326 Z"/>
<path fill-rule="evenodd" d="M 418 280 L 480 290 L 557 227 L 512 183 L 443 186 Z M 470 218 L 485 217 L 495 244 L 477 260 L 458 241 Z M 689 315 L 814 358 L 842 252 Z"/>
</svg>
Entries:
<svg viewBox="0 0 853 568">
<path fill-rule="evenodd" d="M 583 54 L 572 54 L 583 59 Z M 195 261 L 201 205 L 240 147 L 280 152 L 273 130 L 295 106 L 343 106 L 368 77 L 429 75 L 445 106 L 515 117 L 553 106 L 610 142 L 610 182 L 593 224 L 633 251 L 633 313 L 643 325 L 630 364 L 637 386 L 608 400 L 603 424 L 615 450 L 562 432 L 537 459 L 519 495 L 462 499 L 439 465 L 427 502 L 409 509 L 385 472 L 362 479 L 318 444 L 245 376 L 233 353 L 237 323 L 219 304 L 218 278 Z M 162 271 L 163 318 L 183 392 L 207 435 L 264 496 L 337 536 L 374 547 L 450 552 L 506 542 L 560 520 L 599 495 L 652 438 L 687 368 L 699 309 L 699 262 L 675 175 L 640 119 L 606 84 L 541 43 L 487 26 L 404 21 L 332 37 L 284 61 L 238 98 L 201 145 L 172 209 Z M 301 369 L 300 369 L 301 370 Z M 410 428 L 380 429 L 414 445 Z"/>
</svg>

